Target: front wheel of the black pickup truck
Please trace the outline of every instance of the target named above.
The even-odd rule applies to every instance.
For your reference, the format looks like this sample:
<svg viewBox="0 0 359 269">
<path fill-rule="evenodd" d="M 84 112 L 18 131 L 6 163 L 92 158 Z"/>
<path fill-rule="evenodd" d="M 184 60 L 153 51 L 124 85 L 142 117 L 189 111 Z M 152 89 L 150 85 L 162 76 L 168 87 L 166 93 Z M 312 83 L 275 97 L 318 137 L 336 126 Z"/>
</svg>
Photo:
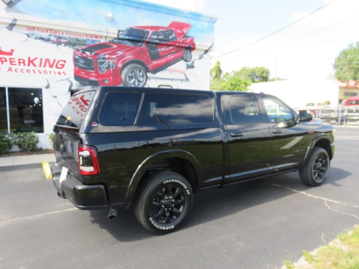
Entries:
<svg viewBox="0 0 359 269">
<path fill-rule="evenodd" d="M 308 186 L 319 186 L 327 178 L 330 160 L 327 151 L 314 147 L 306 164 L 299 170 L 302 182 Z"/>
</svg>

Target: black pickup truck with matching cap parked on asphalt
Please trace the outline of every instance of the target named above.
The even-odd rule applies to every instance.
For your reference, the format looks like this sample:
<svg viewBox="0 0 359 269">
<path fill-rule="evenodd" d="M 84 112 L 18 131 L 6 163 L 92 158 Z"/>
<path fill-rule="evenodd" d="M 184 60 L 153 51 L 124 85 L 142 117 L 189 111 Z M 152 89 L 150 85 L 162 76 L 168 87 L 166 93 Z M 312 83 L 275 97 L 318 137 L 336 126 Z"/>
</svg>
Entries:
<svg viewBox="0 0 359 269">
<path fill-rule="evenodd" d="M 299 170 L 317 186 L 334 155 L 333 127 L 280 99 L 246 92 L 102 87 L 68 101 L 54 127 L 58 196 L 84 210 L 132 202 L 157 234 L 188 216 L 193 193 Z"/>
</svg>

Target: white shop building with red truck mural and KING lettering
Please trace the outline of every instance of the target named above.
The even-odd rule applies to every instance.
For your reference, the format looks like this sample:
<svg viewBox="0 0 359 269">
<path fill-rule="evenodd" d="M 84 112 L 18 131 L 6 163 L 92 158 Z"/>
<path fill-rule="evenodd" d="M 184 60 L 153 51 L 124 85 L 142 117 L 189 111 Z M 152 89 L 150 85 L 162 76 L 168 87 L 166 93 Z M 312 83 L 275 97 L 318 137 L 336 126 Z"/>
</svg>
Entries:
<svg viewBox="0 0 359 269">
<path fill-rule="evenodd" d="M 137 0 L 0 0 L 0 132 L 35 131 L 49 148 L 81 89 L 209 90 L 215 21 Z"/>
</svg>

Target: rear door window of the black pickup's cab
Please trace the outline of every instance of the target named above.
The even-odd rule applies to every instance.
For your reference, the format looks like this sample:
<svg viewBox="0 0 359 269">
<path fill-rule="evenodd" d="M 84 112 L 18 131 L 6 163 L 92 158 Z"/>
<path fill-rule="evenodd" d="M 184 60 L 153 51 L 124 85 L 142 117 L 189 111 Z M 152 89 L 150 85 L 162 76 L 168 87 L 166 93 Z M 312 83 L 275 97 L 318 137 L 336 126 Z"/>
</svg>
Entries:
<svg viewBox="0 0 359 269">
<path fill-rule="evenodd" d="M 232 123 L 261 122 L 261 112 L 254 96 L 231 96 L 229 98 Z"/>
</svg>

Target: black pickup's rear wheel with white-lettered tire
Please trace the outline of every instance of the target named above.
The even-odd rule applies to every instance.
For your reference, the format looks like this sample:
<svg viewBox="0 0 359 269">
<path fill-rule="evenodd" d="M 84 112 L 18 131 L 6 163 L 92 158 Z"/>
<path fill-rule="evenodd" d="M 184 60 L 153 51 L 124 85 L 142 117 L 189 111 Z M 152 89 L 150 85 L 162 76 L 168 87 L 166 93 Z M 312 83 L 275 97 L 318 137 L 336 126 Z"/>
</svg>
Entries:
<svg viewBox="0 0 359 269">
<path fill-rule="evenodd" d="M 166 234 L 174 231 L 188 217 L 193 203 L 189 182 L 170 171 L 145 179 L 135 200 L 135 215 L 148 231 Z"/>
</svg>

